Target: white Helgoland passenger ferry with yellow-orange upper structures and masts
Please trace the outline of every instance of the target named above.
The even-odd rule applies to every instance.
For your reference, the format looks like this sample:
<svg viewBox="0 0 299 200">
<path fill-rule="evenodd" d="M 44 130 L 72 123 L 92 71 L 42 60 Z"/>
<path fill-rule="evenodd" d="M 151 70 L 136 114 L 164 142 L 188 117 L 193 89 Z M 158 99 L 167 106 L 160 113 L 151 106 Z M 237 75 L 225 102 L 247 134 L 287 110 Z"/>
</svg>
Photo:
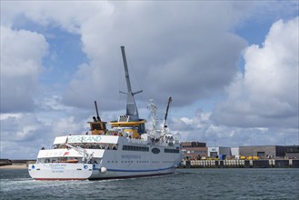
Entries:
<svg viewBox="0 0 299 200">
<path fill-rule="evenodd" d="M 180 143 L 170 134 L 166 125 L 168 100 L 164 122 L 158 128 L 156 106 L 150 102 L 152 128 L 145 128 L 145 119 L 140 119 L 132 92 L 125 58 L 121 46 L 127 85 L 126 114 L 110 122 L 106 128 L 98 115 L 85 135 L 55 137 L 53 149 L 42 149 L 35 164 L 28 165 L 29 175 L 35 180 L 87 180 L 131 178 L 151 175 L 173 174 L 182 160 Z"/>
</svg>

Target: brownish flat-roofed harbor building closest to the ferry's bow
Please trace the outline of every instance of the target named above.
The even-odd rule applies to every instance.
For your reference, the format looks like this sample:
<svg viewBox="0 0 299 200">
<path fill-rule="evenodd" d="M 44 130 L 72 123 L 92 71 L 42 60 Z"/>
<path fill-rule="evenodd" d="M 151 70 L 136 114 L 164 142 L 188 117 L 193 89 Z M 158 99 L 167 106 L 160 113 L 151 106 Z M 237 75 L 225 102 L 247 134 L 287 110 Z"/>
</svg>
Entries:
<svg viewBox="0 0 299 200">
<path fill-rule="evenodd" d="M 199 160 L 207 155 L 207 147 L 205 143 L 182 142 L 181 145 L 184 160 Z"/>
</svg>

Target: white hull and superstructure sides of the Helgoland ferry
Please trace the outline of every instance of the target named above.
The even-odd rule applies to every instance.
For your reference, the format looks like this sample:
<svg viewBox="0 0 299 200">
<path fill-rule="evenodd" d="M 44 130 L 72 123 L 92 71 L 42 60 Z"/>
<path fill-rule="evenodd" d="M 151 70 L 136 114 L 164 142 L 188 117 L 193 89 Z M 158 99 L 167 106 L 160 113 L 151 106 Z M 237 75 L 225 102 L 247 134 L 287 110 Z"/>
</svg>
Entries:
<svg viewBox="0 0 299 200">
<path fill-rule="evenodd" d="M 86 179 L 110 179 L 131 178 L 151 175 L 168 175 L 174 173 L 175 166 L 179 165 L 182 155 L 176 148 L 178 145 L 146 145 L 141 140 L 134 140 L 122 136 L 111 135 L 74 135 L 65 136 L 72 141 L 74 138 L 96 137 L 101 145 L 107 141 L 115 141 L 118 149 L 85 149 L 86 154 L 93 154 L 93 164 L 85 164 L 75 149 L 59 148 L 40 150 L 36 164 L 28 166 L 29 175 L 35 180 L 86 180 Z M 61 140 L 58 139 L 58 140 Z M 81 139 L 80 139 L 81 140 Z M 76 140 L 74 140 L 76 141 Z M 128 150 L 125 146 L 137 146 L 139 150 Z M 125 149 L 125 150 L 124 150 Z M 153 153 L 155 149 L 159 153 Z M 165 153 L 165 149 L 171 149 L 177 153 Z M 63 163 L 65 158 L 76 158 L 78 163 Z M 46 163 L 47 162 L 50 163 Z"/>
</svg>

